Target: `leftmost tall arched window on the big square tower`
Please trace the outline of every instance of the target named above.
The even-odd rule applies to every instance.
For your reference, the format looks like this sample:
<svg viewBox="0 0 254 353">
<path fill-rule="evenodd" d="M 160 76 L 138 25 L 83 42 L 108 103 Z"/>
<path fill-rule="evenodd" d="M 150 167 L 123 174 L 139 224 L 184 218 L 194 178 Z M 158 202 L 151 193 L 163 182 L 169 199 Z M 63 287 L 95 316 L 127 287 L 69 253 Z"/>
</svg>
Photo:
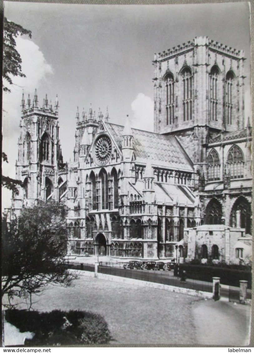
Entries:
<svg viewBox="0 0 254 353">
<path fill-rule="evenodd" d="M 168 74 L 164 78 L 164 90 L 165 90 L 165 105 L 166 105 L 166 124 L 174 124 L 175 115 L 175 100 L 174 100 L 174 77 L 172 74 Z"/>
</svg>

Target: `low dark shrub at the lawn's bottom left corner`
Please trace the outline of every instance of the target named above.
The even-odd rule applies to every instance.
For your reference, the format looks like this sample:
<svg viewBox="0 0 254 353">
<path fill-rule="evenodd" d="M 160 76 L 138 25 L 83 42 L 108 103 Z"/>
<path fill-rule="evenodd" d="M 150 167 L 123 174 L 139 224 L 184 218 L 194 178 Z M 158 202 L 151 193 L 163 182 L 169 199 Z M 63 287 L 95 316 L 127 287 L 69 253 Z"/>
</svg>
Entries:
<svg viewBox="0 0 254 353">
<path fill-rule="evenodd" d="M 96 313 L 86 311 L 51 312 L 6 310 L 6 321 L 21 332 L 35 333 L 26 346 L 59 346 L 77 344 L 105 344 L 111 339 L 108 324 Z"/>
</svg>

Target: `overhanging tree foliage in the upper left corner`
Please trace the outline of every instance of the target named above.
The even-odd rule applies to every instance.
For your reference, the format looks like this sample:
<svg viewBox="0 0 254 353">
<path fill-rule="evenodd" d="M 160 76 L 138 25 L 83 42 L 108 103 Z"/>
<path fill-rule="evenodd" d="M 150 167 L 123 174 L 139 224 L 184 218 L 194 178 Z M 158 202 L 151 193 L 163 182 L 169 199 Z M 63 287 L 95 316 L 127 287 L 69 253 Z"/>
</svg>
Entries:
<svg viewBox="0 0 254 353">
<path fill-rule="evenodd" d="M 7 80 L 9 84 L 13 84 L 12 76 L 26 77 L 22 72 L 22 59 L 18 50 L 16 49 L 16 40 L 15 38 L 18 35 L 28 35 L 29 38 L 32 37 L 31 31 L 23 28 L 22 26 L 8 21 L 7 18 L 4 18 L 4 54 L 3 54 L 3 78 Z M 11 92 L 9 88 L 3 86 L 5 92 Z"/>
</svg>

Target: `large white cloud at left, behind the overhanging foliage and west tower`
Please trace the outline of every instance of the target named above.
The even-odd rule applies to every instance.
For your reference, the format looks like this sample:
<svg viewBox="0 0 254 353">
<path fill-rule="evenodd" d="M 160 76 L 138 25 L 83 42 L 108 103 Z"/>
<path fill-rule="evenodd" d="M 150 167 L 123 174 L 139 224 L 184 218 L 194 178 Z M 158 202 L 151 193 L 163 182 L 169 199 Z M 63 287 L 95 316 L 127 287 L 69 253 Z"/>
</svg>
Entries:
<svg viewBox="0 0 254 353">
<path fill-rule="evenodd" d="M 7 154 L 9 163 L 2 163 L 3 175 L 15 178 L 15 161 L 18 158 L 19 120 L 21 114 L 22 89 L 27 98 L 34 93 L 35 88 L 51 78 L 53 68 L 47 63 L 40 48 L 32 41 L 16 38 L 16 49 L 22 59 L 22 72 L 26 77 L 13 77 L 13 85 L 4 84 L 11 89 L 11 93 L 3 93 L 2 150 Z M 31 96 L 31 101 L 33 97 Z M 11 192 L 3 190 L 2 207 L 10 206 Z"/>
</svg>

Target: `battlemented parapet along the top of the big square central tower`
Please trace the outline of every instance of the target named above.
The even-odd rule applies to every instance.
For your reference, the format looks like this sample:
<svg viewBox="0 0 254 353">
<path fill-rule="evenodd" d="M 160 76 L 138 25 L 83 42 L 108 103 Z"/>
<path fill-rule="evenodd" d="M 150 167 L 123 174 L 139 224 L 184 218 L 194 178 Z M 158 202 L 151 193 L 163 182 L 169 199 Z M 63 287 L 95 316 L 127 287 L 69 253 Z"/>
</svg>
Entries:
<svg viewBox="0 0 254 353">
<path fill-rule="evenodd" d="M 161 53 L 155 53 L 154 61 L 165 59 L 169 56 L 180 54 L 188 49 L 194 48 L 195 46 L 207 46 L 213 49 L 216 49 L 225 54 L 235 56 L 236 58 L 243 58 L 243 50 L 237 50 L 231 47 L 228 47 L 224 44 L 210 40 L 208 37 L 195 37 L 193 40 L 188 41 L 187 43 L 179 44 L 177 47 L 173 47 L 168 50 L 164 50 Z"/>
</svg>

